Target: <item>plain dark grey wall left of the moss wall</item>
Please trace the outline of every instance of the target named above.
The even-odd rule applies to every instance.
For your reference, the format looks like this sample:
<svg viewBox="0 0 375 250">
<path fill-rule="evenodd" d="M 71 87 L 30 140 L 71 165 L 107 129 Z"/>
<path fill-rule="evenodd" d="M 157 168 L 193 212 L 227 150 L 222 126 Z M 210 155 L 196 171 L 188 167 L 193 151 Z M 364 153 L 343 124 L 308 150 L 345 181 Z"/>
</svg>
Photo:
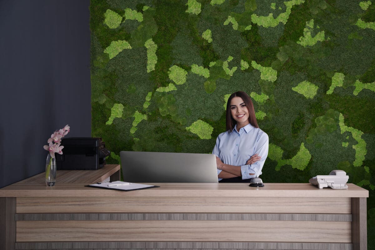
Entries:
<svg viewBox="0 0 375 250">
<path fill-rule="evenodd" d="M 45 170 L 54 130 L 91 135 L 89 5 L 0 0 L 0 188 Z"/>
</svg>

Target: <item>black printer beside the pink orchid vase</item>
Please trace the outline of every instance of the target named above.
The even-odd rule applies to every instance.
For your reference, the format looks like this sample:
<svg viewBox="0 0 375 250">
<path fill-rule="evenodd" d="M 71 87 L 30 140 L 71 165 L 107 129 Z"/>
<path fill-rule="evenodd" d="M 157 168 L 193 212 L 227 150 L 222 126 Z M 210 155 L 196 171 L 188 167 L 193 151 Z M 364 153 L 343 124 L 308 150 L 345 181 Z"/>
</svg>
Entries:
<svg viewBox="0 0 375 250">
<path fill-rule="evenodd" d="M 55 154 L 57 170 L 97 170 L 111 154 L 102 138 L 63 138 L 61 146 L 64 146 L 63 154 Z"/>
</svg>

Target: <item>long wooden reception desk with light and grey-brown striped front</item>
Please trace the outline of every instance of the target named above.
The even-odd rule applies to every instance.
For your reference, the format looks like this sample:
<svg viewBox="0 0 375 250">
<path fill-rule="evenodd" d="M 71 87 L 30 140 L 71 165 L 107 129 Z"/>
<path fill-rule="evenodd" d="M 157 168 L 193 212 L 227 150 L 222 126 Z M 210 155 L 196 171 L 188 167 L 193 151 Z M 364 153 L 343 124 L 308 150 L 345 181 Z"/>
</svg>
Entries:
<svg viewBox="0 0 375 250">
<path fill-rule="evenodd" d="M 367 249 L 368 190 L 154 183 L 129 192 L 22 181 L 0 189 L 6 249 Z M 8 238 L 7 238 L 8 237 Z M 9 238 L 10 237 L 10 238 Z M 10 240 L 9 240 L 10 239 Z"/>
</svg>

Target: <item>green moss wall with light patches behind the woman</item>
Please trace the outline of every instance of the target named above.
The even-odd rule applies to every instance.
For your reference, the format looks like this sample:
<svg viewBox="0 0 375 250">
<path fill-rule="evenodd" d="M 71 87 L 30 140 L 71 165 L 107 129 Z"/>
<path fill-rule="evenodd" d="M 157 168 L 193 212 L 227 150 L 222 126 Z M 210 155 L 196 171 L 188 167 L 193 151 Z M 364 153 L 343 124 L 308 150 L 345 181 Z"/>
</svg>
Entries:
<svg viewBox="0 0 375 250">
<path fill-rule="evenodd" d="M 92 0 L 90 13 L 92 136 L 108 162 L 210 153 L 243 90 L 270 138 L 263 180 L 343 169 L 370 190 L 374 234 L 375 2 Z"/>
</svg>

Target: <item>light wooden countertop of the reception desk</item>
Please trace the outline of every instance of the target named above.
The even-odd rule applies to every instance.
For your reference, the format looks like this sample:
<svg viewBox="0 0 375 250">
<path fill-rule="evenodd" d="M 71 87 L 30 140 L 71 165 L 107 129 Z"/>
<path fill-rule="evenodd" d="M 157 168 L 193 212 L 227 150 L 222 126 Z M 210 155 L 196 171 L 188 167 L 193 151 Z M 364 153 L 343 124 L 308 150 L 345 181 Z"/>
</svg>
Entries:
<svg viewBox="0 0 375 250">
<path fill-rule="evenodd" d="M 369 197 L 369 191 L 349 183 L 349 189 L 318 189 L 309 183 L 265 183 L 249 187 L 246 183 L 151 183 L 154 189 L 123 192 L 85 187 L 90 183 L 15 183 L 0 189 L 0 197 Z"/>
</svg>

